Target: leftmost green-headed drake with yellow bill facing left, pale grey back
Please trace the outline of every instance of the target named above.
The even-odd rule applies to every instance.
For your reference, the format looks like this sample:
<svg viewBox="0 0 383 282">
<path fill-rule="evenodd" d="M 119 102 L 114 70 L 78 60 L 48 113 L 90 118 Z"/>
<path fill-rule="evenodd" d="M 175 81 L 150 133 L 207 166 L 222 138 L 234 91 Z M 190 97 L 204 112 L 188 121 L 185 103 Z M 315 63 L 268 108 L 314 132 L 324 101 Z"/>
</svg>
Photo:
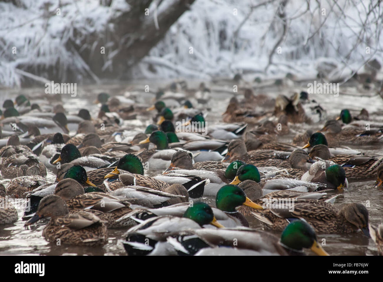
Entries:
<svg viewBox="0 0 383 282">
<path fill-rule="evenodd" d="M 81 157 L 80 151 L 75 145 L 67 144 L 62 147 L 60 156 L 52 163 L 72 163 L 74 165 L 81 165 L 82 167 L 86 167 L 89 170 L 91 168 L 107 167 L 115 161 L 116 158 L 104 155 L 89 155 L 86 157 Z"/>
</svg>

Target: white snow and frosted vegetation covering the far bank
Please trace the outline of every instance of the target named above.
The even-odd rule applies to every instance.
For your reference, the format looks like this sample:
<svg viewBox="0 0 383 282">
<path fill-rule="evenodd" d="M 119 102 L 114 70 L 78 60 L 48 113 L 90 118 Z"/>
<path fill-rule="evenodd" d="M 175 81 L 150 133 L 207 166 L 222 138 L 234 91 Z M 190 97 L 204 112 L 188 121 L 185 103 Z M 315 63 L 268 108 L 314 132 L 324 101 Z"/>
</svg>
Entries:
<svg viewBox="0 0 383 282">
<path fill-rule="evenodd" d="M 160 2 L 158 15 L 173 1 Z M 36 66 L 36 70 L 38 65 L 58 66 L 62 80 L 68 72 L 78 74 L 79 79 L 89 76 L 91 71 L 86 64 L 65 43 L 74 39 L 74 30 L 79 32 L 77 39 L 93 31 L 100 36 L 105 35 L 105 29 L 113 32 L 109 21 L 130 9 L 124 0 L 113 0 L 111 7 L 94 0 L 20 2 L 24 7 L 0 3 L 0 84 L 5 86 L 21 86 L 24 75 L 18 70 L 25 65 Z M 286 5 L 288 31 L 280 44 L 280 54 L 273 50 L 282 35 L 283 22 L 276 17 L 280 1 L 257 7 L 249 15 L 252 6 L 263 2 L 266 1 L 196 0 L 164 39 L 131 70 L 131 77 L 210 79 L 243 73 L 254 80 L 257 76 L 283 77 L 287 72 L 304 77 L 315 76 L 323 63 L 331 62 L 334 69 L 328 76 L 345 78 L 368 59 L 381 61 L 383 17 L 379 15 L 377 0 L 318 1 L 321 7 L 317 1 L 309 0 L 309 8 L 306 0 L 290 0 Z M 155 7 L 152 3 L 149 10 Z M 57 8 L 61 15 L 56 15 Z M 322 15 L 322 9 L 326 9 L 326 15 Z M 16 54 L 12 53 L 13 47 Z M 370 54 L 366 53 L 367 47 Z M 265 72 L 272 52 L 274 64 Z M 113 68 L 110 62 L 104 69 Z M 155 72 L 149 70 L 149 64 Z"/>
</svg>

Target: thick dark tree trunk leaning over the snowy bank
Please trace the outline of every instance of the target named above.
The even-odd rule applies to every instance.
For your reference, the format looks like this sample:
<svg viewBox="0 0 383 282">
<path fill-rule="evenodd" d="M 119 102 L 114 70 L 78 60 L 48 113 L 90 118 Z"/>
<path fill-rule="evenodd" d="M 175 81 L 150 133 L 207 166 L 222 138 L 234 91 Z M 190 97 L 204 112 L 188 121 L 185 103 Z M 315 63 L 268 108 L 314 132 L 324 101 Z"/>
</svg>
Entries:
<svg viewBox="0 0 383 282">
<path fill-rule="evenodd" d="M 68 43 L 99 78 L 123 78 L 129 68 L 146 56 L 170 26 L 195 0 L 126 0 L 132 7 L 112 22 L 103 34 L 89 34 Z M 145 11 L 152 2 L 157 9 Z M 145 15 L 149 12 L 149 15 Z M 105 48 L 105 53 L 101 48 Z"/>
</svg>

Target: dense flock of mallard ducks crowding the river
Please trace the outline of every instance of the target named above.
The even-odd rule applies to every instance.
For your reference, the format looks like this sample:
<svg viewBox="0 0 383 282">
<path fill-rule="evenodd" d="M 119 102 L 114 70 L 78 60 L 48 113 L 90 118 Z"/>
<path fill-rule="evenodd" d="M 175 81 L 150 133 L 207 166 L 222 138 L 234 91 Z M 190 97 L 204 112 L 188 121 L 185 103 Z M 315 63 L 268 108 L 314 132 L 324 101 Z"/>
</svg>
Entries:
<svg viewBox="0 0 383 282">
<path fill-rule="evenodd" d="M 243 93 L 214 125 L 205 120 L 213 101 L 204 84 L 195 93 L 172 84 L 155 94 L 152 106 L 136 102 L 140 93 L 100 93 L 93 116 L 45 102 L 59 96 L 6 100 L 0 172 L 10 181 L 0 184 L 0 200 L 26 198 L 25 226 L 42 220 L 42 235 L 53 243 L 100 246 L 108 229 L 124 228 L 128 255 L 301 255 L 305 249 L 328 255 L 316 233 L 354 232 L 372 237 L 383 254 L 383 224 L 369 224 L 363 204 L 333 205 L 349 180 L 377 177 L 375 186 L 382 185 L 383 156 L 345 147 L 382 143 L 381 125 L 370 121 L 366 130 L 365 109 L 355 117 L 343 109 L 317 132 L 294 131 L 295 124 L 312 122 L 310 109 L 323 114 L 306 92 L 276 99 Z M 137 119 L 147 127 L 130 123 Z M 182 121 L 191 130 L 179 130 Z M 290 143 L 278 142 L 292 132 Z M 47 172 L 56 181 L 47 181 Z M 265 231 L 252 229 L 249 218 Z M 0 207 L 0 224 L 17 220 L 11 204 Z"/>
</svg>

